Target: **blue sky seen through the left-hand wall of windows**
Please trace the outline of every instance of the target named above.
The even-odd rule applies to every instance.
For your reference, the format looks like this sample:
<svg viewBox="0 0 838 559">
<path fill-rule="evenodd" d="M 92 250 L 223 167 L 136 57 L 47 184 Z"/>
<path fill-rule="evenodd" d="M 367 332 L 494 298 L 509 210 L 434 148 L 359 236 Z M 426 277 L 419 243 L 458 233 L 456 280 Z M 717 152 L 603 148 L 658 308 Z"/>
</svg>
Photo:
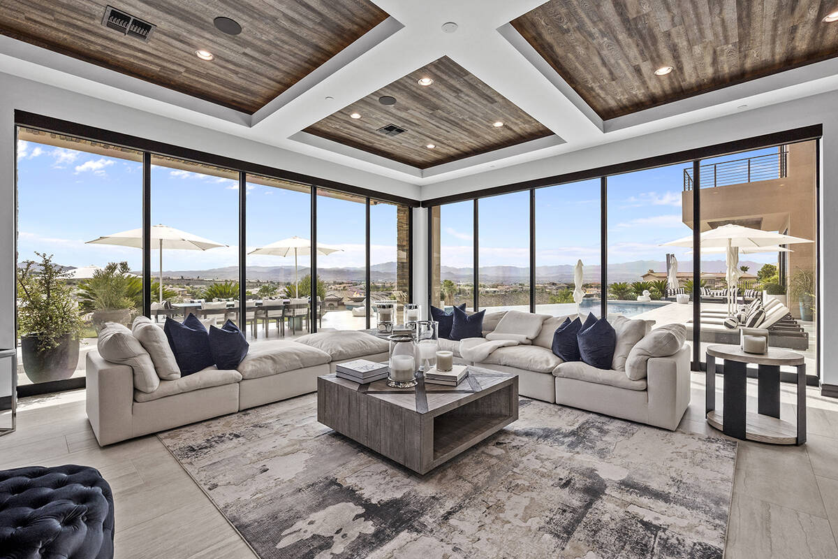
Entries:
<svg viewBox="0 0 838 559">
<path fill-rule="evenodd" d="M 158 161 L 153 160 L 153 163 Z M 226 247 L 209 251 L 164 251 L 165 270 L 238 265 L 238 182 L 153 164 L 152 223 L 185 230 Z M 87 245 L 99 236 L 142 225 L 142 163 L 35 142 L 18 142 L 18 252 L 55 255 L 65 266 L 104 266 L 128 261 L 142 266 L 139 249 Z M 247 185 L 248 250 L 290 236 L 311 237 L 307 193 L 262 184 Z M 396 206 L 370 208 L 372 263 L 396 260 Z M 342 251 L 318 259 L 320 267 L 363 267 L 364 204 L 318 198 L 318 241 Z M 158 253 L 152 255 L 158 270 Z M 248 265 L 292 266 L 293 258 L 248 256 Z M 308 256 L 300 266 L 308 266 Z"/>
</svg>

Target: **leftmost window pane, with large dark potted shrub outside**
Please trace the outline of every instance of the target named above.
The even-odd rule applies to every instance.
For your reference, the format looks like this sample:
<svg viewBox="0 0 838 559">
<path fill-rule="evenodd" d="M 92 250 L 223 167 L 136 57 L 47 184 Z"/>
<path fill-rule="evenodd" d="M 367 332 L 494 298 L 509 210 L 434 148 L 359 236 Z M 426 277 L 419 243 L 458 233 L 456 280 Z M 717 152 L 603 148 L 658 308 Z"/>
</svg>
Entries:
<svg viewBox="0 0 838 559">
<path fill-rule="evenodd" d="M 25 127 L 17 148 L 18 386 L 84 377 L 102 324 L 142 313 L 139 240 L 112 238 L 142 225 L 142 153 Z"/>
</svg>

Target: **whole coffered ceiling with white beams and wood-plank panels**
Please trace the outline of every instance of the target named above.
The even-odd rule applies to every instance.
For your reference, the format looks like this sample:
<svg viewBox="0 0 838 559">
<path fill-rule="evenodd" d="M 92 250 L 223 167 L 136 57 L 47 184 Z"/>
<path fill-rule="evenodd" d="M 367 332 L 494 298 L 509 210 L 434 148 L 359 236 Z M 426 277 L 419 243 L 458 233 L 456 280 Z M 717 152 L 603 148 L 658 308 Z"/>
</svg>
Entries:
<svg viewBox="0 0 838 559">
<path fill-rule="evenodd" d="M 104 27 L 109 2 L 156 25 L 150 39 Z M 241 34 L 215 28 L 218 16 Z M 0 72 L 76 91 L 94 108 L 110 101 L 411 184 L 836 91 L 836 54 L 838 0 L 4 0 L 0 9 Z M 662 66 L 672 71 L 654 75 Z M 433 84 L 418 85 L 422 77 Z M 406 132 L 376 132 L 390 124 Z"/>
</svg>

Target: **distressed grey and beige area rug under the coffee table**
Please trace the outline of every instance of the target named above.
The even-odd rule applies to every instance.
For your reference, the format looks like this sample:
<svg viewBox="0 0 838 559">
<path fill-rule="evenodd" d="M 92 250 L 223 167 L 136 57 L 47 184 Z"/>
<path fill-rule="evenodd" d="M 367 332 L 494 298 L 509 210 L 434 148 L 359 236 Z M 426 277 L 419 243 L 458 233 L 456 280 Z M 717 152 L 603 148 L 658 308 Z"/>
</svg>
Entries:
<svg viewBox="0 0 838 559">
<path fill-rule="evenodd" d="M 262 559 L 722 557 L 736 443 L 522 398 L 420 476 L 308 395 L 159 435 Z"/>
</svg>

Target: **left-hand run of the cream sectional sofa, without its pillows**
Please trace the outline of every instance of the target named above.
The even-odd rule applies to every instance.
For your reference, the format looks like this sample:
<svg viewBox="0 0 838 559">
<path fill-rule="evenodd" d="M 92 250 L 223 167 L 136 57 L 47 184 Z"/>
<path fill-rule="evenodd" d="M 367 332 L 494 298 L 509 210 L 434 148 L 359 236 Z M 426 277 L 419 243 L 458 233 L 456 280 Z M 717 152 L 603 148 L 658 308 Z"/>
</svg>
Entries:
<svg viewBox="0 0 838 559">
<path fill-rule="evenodd" d="M 336 363 L 386 360 L 389 344 L 363 332 L 308 334 L 297 341 L 251 344 L 236 370 L 201 370 L 135 389 L 131 365 L 87 354 L 87 417 L 100 445 L 179 427 L 317 390 Z"/>
</svg>

